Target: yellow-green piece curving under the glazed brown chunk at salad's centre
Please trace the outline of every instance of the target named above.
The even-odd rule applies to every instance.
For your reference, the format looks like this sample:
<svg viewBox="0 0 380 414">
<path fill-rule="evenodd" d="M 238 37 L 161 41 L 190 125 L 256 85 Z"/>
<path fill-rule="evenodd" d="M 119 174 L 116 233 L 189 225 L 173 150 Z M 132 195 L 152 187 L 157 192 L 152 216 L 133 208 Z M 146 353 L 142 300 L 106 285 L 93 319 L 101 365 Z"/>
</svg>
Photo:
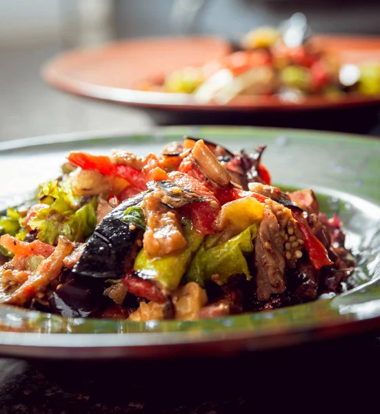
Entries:
<svg viewBox="0 0 380 414">
<path fill-rule="evenodd" d="M 177 288 L 192 255 L 197 251 L 203 240 L 201 233 L 192 228 L 190 221 L 186 222 L 183 233 L 188 244 L 185 249 L 178 253 L 151 259 L 143 248 L 134 262 L 134 270 L 138 271 L 139 276 L 156 280 L 169 290 Z"/>
</svg>

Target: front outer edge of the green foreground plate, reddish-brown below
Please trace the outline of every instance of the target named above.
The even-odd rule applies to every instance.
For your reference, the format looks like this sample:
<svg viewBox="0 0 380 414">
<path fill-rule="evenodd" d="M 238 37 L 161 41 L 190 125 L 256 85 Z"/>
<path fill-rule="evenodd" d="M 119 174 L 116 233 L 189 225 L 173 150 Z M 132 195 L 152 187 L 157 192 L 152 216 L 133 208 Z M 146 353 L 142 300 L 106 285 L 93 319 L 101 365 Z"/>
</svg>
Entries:
<svg viewBox="0 0 380 414">
<path fill-rule="evenodd" d="M 252 335 L 252 332 L 235 333 L 226 335 L 219 333 L 212 337 L 202 337 L 194 340 L 190 335 L 177 333 L 88 333 L 75 334 L 68 333 L 11 333 L 0 332 L 0 356 L 1 357 L 23 357 L 37 359 L 156 359 L 157 357 L 177 357 L 178 355 L 234 355 L 246 351 L 263 351 L 280 348 L 288 348 L 299 344 L 311 342 L 326 342 L 329 339 L 339 339 L 350 337 L 359 333 L 366 333 L 379 329 L 380 315 L 371 319 L 351 320 L 345 324 L 346 331 L 343 331 L 340 323 L 330 323 L 323 326 L 309 326 L 307 328 L 292 328 L 284 334 L 280 328 L 271 330 L 266 335 Z M 348 333 L 348 329 L 350 332 Z M 46 335 L 43 338 L 41 335 Z M 70 340 L 75 337 L 75 344 L 59 344 L 61 339 Z M 139 336 L 140 341 L 128 344 L 126 341 L 114 343 L 114 339 L 122 339 L 130 335 Z M 170 337 L 170 341 L 159 341 L 149 343 L 154 335 L 158 339 Z M 93 344 L 97 338 L 104 339 L 103 344 Z M 22 338 L 22 343 L 20 343 Z M 174 340 L 172 340 L 174 338 Z M 50 344 L 41 344 L 41 339 L 49 339 Z M 50 341 L 53 339 L 53 341 Z M 169 338 L 168 338 L 169 339 Z M 191 340 L 189 340 L 191 339 Z M 275 341 L 274 341 L 275 339 Z M 110 343 L 112 342 L 112 343 Z M 148 342 L 148 343 L 146 343 Z M 201 348 L 201 351 L 200 349 Z M 91 350 L 91 352 L 89 352 Z M 48 352 L 47 352 L 48 351 Z M 148 353 L 146 352 L 148 351 Z"/>
</svg>

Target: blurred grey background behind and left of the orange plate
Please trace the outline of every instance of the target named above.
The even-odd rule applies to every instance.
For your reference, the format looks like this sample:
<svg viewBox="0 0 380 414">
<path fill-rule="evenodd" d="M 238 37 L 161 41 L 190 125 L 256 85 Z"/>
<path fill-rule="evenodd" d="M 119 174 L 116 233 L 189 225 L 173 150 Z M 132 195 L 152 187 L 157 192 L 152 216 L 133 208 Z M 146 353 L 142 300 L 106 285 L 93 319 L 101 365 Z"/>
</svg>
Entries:
<svg viewBox="0 0 380 414">
<path fill-rule="evenodd" d="M 41 65 L 59 52 L 141 36 L 234 40 L 299 11 L 314 32 L 380 34 L 379 0 L 1 0 L 0 139 L 152 124 L 138 110 L 44 85 Z"/>
</svg>

